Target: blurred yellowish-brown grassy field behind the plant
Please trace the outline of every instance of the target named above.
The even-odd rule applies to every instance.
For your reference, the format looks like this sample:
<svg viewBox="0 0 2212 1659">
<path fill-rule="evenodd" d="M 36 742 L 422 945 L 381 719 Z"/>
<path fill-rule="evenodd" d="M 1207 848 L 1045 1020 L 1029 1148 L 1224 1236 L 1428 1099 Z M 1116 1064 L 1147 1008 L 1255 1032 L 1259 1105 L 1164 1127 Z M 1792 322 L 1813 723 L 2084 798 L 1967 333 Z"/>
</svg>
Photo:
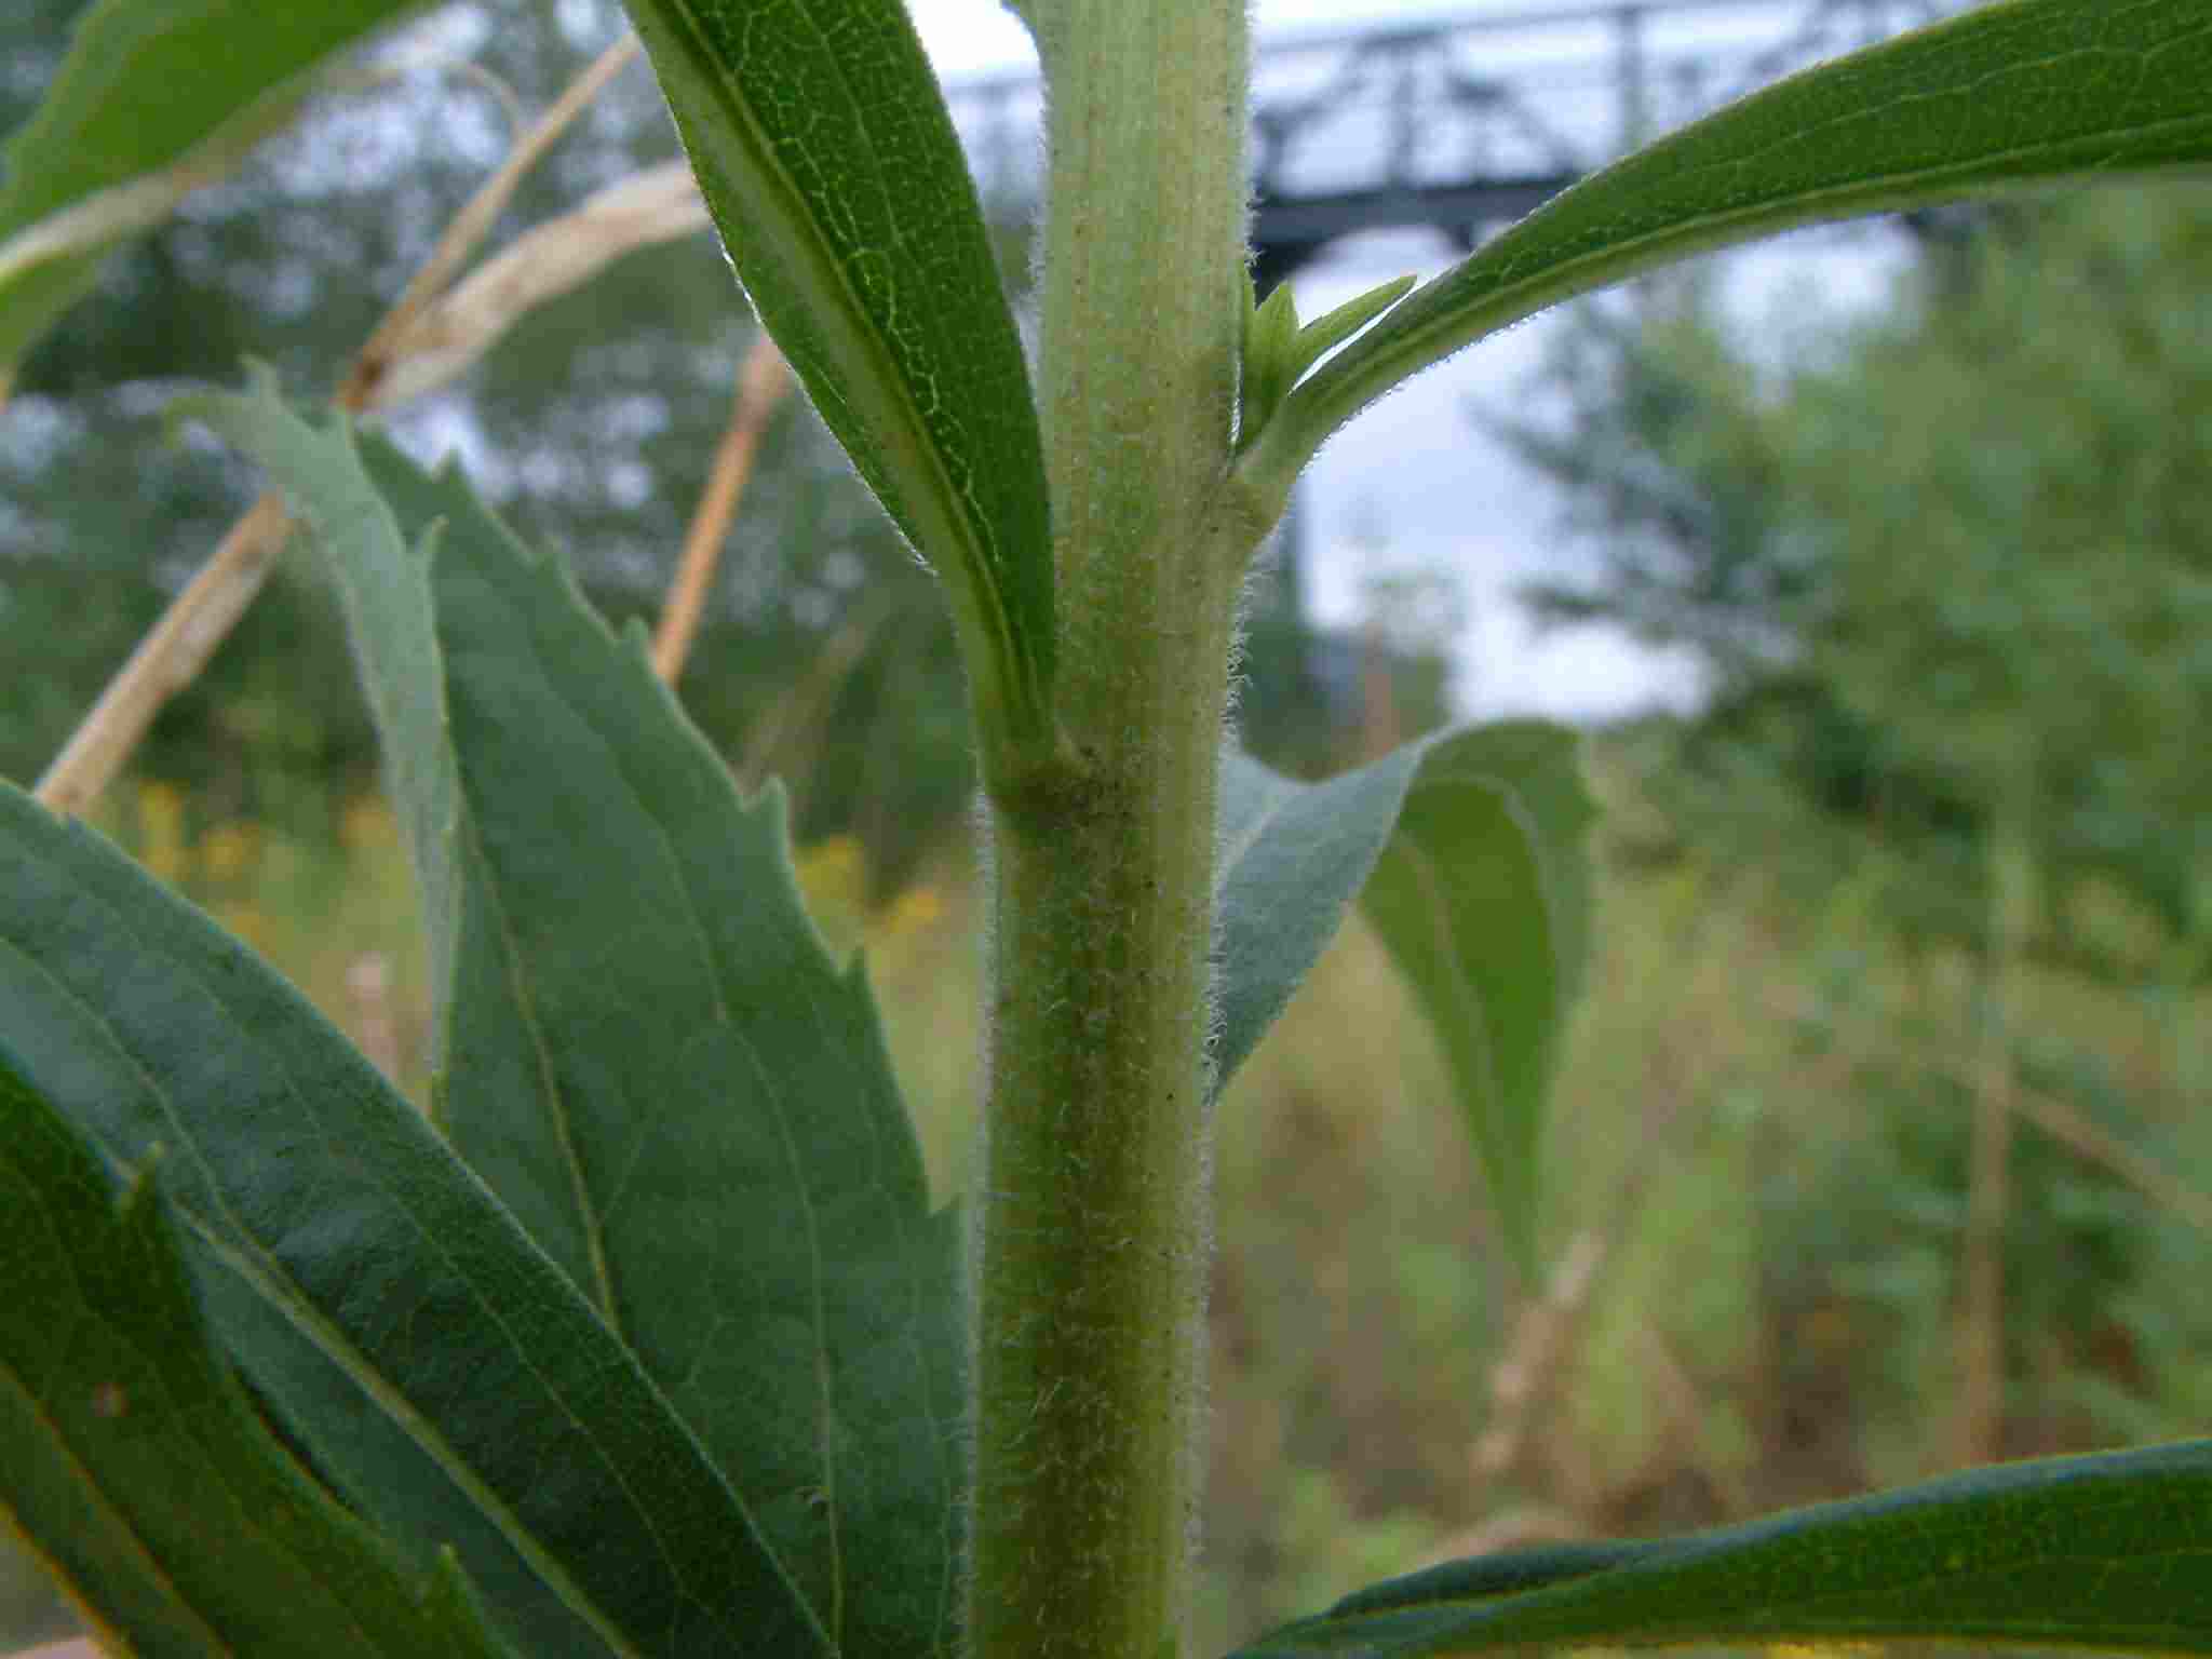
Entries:
<svg viewBox="0 0 2212 1659">
<path fill-rule="evenodd" d="M 1548 1285 L 1500 1267 L 1429 1042 L 1356 925 L 1221 1106 L 1212 1648 L 1438 1555 L 1677 1531 L 1964 1460 L 1969 1146 L 1997 1062 L 2017 1121 L 1997 1449 L 2212 1425 L 2212 1119 L 2192 1110 L 2212 1000 L 2031 969 L 1993 1046 L 1973 960 L 1849 894 L 1809 914 L 1756 865 L 1655 858 L 1604 750 L 1599 774 L 1599 956 L 1548 1137 Z M 144 785 L 100 827 L 420 1099 L 392 816 L 363 794 L 283 818 Z M 872 905 L 858 847 L 832 841 L 801 878 L 832 945 L 867 949 L 947 1192 L 973 1148 L 971 867 L 938 856 Z M 0 1564 L 0 1648 L 46 1617 L 33 1586 Z"/>
</svg>

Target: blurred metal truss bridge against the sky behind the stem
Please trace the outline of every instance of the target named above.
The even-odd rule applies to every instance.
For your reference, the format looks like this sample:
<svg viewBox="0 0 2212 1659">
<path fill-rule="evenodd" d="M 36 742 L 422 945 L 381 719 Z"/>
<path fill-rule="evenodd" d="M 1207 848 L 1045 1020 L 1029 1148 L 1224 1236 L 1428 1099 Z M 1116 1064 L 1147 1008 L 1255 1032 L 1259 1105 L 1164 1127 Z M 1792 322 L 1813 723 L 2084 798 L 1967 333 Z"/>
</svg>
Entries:
<svg viewBox="0 0 2212 1659">
<path fill-rule="evenodd" d="M 1460 252 L 1615 155 L 1962 0 L 1604 0 L 1491 9 L 1254 51 L 1259 288 L 1327 243 L 1425 226 Z M 1035 201 L 1033 75 L 947 86 L 987 199 Z"/>
</svg>

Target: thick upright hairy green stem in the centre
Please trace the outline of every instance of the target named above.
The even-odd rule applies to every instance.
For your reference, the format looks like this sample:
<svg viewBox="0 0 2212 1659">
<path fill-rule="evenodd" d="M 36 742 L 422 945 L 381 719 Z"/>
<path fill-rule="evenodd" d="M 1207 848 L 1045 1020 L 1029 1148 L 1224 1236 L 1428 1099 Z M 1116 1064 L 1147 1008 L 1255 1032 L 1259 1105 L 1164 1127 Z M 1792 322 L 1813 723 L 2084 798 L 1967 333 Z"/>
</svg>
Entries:
<svg viewBox="0 0 2212 1659">
<path fill-rule="evenodd" d="M 1194 1535 L 1214 774 L 1265 529 L 1228 484 L 1245 20 L 1033 13 L 1064 763 L 993 801 L 969 1639 L 1157 1659 Z"/>
</svg>

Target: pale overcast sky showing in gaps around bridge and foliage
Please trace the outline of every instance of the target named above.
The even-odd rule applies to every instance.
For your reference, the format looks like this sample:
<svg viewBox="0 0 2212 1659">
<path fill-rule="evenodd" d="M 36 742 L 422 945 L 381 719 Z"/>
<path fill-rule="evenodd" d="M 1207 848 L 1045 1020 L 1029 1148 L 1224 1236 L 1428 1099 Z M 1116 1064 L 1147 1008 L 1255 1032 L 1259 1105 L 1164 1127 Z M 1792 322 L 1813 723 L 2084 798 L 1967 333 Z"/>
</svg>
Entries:
<svg viewBox="0 0 2212 1659">
<path fill-rule="evenodd" d="M 998 0 L 909 4 L 947 82 L 1035 66 L 1026 31 Z M 1528 9 L 1528 0 L 1259 0 L 1254 22 L 1265 46 L 1270 38 L 1374 22 Z M 1690 27 L 1725 24 L 1725 15 L 1708 13 L 1705 22 Z M 1741 29 L 1741 18 L 1736 27 Z M 1500 51 L 1511 44 L 1511 38 L 1502 38 Z M 1588 42 L 1588 49 L 1601 46 L 1601 40 Z M 1575 51 L 1559 40 L 1542 49 L 1553 58 Z M 1730 294 L 1747 325 L 1772 314 L 1783 294 L 1792 296 L 1794 312 L 1803 316 L 1807 283 L 1845 307 L 1880 292 L 1887 268 L 1880 237 L 1840 246 L 1834 232 L 1814 234 L 1825 237 L 1816 248 L 1829 250 L 1818 263 L 1787 254 L 1736 257 Z M 1442 237 L 1427 232 L 1338 243 L 1323 263 L 1294 279 L 1298 312 L 1318 316 L 1400 272 L 1429 279 L 1455 257 Z M 1557 502 L 1540 478 L 1517 467 L 1469 420 L 1467 409 L 1511 409 L 1526 396 L 1546 327 L 1548 319 L 1535 319 L 1462 352 L 1369 409 L 1329 442 L 1303 484 L 1310 606 L 1323 622 L 1356 622 L 1365 608 L 1363 580 L 1387 571 L 1447 571 L 1469 619 L 1455 675 L 1462 712 L 1604 719 L 1652 703 L 1683 706 L 1694 697 L 1694 677 L 1681 661 L 1655 657 L 1610 630 L 1562 630 L 1537 639 L 1511 597 L 1515 584 L 1557 568 Z"/>
</svg>

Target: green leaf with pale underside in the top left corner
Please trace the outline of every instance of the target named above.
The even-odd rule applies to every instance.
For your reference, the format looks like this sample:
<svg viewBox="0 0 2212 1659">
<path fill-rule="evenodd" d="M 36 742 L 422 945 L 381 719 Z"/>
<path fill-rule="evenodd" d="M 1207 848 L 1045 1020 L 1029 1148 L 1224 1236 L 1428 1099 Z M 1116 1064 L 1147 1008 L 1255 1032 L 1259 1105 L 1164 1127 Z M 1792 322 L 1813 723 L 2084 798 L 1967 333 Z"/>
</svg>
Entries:
<svg viewBox="0 0 2212 1659">
<path fill-rule="evenodd" d="M 100 0 L 0 177 L 0 372 L 117 241 L 230 173 L 299 113 L 316 71 L 425 0 Z"/>
</svg>

